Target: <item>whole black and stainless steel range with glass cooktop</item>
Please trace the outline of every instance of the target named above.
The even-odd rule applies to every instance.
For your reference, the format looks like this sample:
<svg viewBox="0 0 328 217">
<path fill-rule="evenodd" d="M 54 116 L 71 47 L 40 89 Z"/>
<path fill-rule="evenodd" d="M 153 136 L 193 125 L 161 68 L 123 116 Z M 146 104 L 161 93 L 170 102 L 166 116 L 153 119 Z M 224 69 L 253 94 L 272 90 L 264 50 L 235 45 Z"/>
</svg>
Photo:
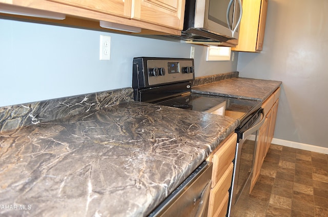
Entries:
<svg viewBox="0 0 328 217">
<path fill-rule="evenodd" d="M 139 57 L 133 59 L 134 100 L 159 105 L 226 115 L 240 120 L 230 205 L 234 209 L 253 173 L 257 130 L 264 121 L 261 102 L 196 94 L 193 59 Z M 254 137 L 255 139 L 250 139 Z"/>
</svg>

